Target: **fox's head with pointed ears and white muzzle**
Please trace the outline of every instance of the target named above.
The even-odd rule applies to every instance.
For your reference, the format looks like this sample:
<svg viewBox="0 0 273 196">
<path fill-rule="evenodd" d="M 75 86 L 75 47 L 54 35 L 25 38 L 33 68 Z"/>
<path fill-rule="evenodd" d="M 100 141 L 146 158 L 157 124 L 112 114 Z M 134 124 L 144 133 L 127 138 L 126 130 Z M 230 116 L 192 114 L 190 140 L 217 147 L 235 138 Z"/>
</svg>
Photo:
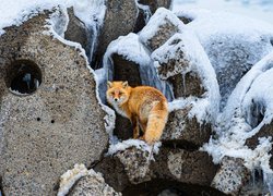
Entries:
<svg viewBox="0 0 273 196">
<path fill-rule="evenodd" d="M 111 105 L 122 105 L 129 99 L 128 82 L 107 82 L 107 101 Z"/>
</svg>

